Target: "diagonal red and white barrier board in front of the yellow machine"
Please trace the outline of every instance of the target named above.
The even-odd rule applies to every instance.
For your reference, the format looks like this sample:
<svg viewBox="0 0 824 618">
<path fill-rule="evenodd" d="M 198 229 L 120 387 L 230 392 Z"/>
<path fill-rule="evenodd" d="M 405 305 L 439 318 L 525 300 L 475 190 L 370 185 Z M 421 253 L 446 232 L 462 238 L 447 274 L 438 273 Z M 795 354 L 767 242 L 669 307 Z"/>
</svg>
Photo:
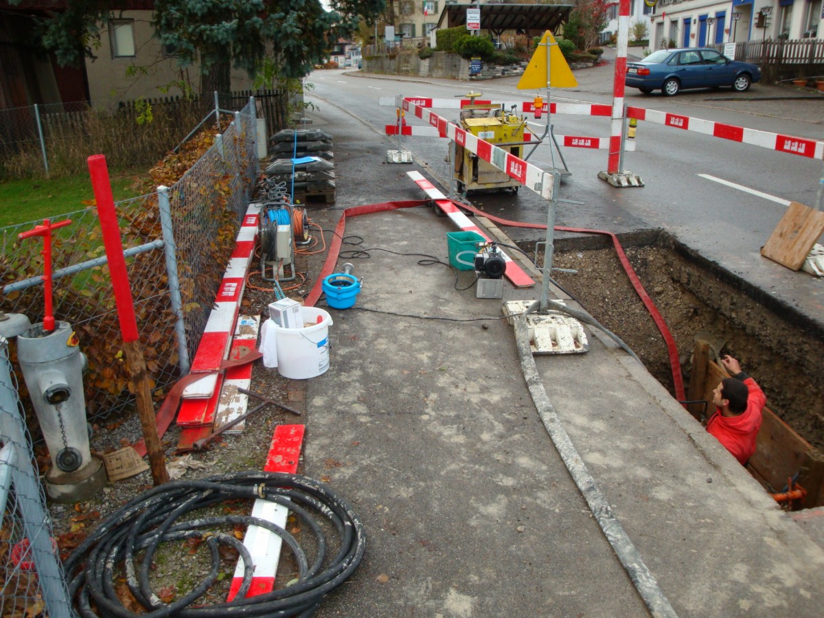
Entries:
<svg viewBox="0 0 824 618">
<path fill-rule="evenodd" d="M 518 180 L 522 185 L 544 199 L 552 199 L 552 175 L 542 170 L 538 166 L 515 157 L 511 152 L 507 152 L 501 147 L 495 146 L 484 139 L 475 137 L 469 131 L 465 131 L 456 124 L 447 122 L 447 119 L 428 111 L 419 105 L 414 105 L 410 101 L 402 101 L 403 97 L 398 97 L 398 104 L 404 110 L 411 111 L 418 118 L 425 120 L 431 126 L 438 129 L 442 138 L 450 138 L 458 145 L 465 147 L 472 154 L 478 155 L 480 159 L 497 167 L 510 178 Z"/>
</svg>

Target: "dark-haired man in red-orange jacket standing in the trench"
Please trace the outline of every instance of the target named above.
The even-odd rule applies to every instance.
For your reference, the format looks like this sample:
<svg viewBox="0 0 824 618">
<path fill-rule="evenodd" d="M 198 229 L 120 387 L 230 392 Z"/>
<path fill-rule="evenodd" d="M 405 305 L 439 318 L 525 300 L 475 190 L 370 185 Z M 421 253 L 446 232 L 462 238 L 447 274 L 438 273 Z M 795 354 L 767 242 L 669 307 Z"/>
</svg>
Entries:
<svg viewBox="0 0 824 618">
<path fill-rule="evenodd" d="M 742 464 L 756 451 L 756 436 L 761 428 L 761 410 L 767 401 L 761 386 L 742 372 L 738 361 L 724 355 L 725 377 L 713 391 L 715 414 L 707 421 L 707 431 Z"/>
</svg>

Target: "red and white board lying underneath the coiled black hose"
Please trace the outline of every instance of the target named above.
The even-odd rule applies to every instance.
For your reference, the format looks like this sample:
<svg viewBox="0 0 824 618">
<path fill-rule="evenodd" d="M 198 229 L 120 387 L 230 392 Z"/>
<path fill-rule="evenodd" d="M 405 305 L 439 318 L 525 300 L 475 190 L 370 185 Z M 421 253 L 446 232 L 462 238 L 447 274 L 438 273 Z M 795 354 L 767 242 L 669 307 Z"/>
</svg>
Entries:
<svg viewBox="0 0 824 618">
<path fill-rule="evenodd" d="M 300 460 L 301 447 L 305 425 L 279 425 L 274 429 L 272 443 L 269 447 L 269 454 L 266 456 L 264 466 L 265 472 L 285 472 L 295 474 L 297 464 Z M 269 500 L 257 499 L 252 505 L 252 517 L 260 517 L 267 522 L 272 522 L 279 527 L 286 527 L 288 509 L 269 502 Z M 256 597 L 274 589 L 274 576 L 278 572 L 280 559 L 281 538 L 258 526 L 250 526 L 246 530 L 243 545 L 249 550 L 252 563 L 255 567 L 255 575 L 252 577 L 252 584 L 246 597 Z M 231 602 L 241 588 L 243 582 L 243 559 L 238 559 L 235 575 L 232 578 L 232 586 L 229 588 L 227 601 Z"/>
</svg>

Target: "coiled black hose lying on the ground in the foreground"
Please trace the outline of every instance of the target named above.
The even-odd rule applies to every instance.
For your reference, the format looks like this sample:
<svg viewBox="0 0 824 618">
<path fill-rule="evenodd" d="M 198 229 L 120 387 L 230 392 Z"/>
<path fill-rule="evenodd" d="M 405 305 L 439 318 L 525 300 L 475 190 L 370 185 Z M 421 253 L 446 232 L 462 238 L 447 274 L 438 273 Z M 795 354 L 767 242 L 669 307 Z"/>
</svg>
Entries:
<svg viewBox="0 0 824 618">
<path fill-rule="evenodd" d="M 258 517 L 226 515 L 194 517 L 196 510 L 227 500 L 266 499 L 297 515 L 315 538 L 316 556 L 311 564 L 295 538 L 283 528 Z M 327 539 L 319 520 L 325 519 L 337 532 L 338 548 L 327 559 Z M 297 582 L 286 588 L 246 597 L 253 572 L 246 547 L 231 533 L 210 531 L 215 527 L 251 525 L 279 535 L 297 561 Z M 328 528 L 328 526 L 327 526 Z M 202 538 L 211 553 L 211 570 L 204 580 L 175 602 L 162 602 L 152 591 L 149 572 L 152 556 L 165 541 Z M 240 552 L 245 573 L 240 591 L 232 602 L 191 607 L 218 579 L 219 545 Z M 344 583 L 358 567 L 366 549 L 363 524 L 333 491 L 305 476 L 272 472 L 236 472 L 202 480 L 175 481 L 150 489 L 107 517 L 86 541 L 68 557 L 64 568 L 72 597 L 82 616 L 310 616 L 330 591 Z M 138 555 L 142 557 L 138 560 Z M 144 613 L 130 611 L 115 590 L 119 565 Z M 96 611 L 91 603 L 96 605 Z"/>
</svg>

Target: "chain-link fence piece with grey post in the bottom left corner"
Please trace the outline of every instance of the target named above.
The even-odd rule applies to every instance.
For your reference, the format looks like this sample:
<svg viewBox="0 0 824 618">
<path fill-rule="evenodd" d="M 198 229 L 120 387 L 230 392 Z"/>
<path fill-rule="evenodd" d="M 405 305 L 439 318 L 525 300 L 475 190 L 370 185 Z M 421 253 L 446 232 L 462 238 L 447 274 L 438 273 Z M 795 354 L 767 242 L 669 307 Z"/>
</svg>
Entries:
<svg viewBox="0 0 824 618">
<path fill-rule="evenodd" d="M 0 337 L 0 616 L 72 616 L 63 564 Z"/>
</svg>

